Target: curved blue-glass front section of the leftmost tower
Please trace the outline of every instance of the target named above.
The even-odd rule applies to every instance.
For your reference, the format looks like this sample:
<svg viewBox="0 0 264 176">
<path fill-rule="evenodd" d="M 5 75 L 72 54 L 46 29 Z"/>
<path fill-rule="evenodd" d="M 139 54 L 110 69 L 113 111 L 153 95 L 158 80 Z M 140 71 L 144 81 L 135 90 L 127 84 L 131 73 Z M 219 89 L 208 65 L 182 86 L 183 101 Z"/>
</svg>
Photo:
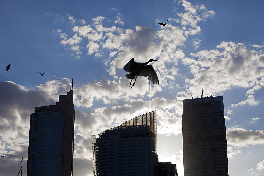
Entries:
<svg viewBox="0 0 264 176">
<path fill-rule="evenodd" d="M 30 173 L 62 172 L 63 120 L 59 112 L 33 113 L 30 119 L 29 160 Z M 29 174 L 30 174 L 29 173 Z"/>
</svg>

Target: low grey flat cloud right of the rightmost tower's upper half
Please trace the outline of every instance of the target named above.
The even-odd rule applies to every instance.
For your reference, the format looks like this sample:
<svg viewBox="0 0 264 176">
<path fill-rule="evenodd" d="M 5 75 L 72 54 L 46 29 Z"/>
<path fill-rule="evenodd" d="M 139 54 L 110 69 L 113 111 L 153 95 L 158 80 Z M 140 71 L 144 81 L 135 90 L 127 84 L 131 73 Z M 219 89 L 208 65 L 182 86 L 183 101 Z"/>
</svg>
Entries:
<svg viewBox="0 0 264 176">
<path fill-rule="evenodd" d="M 243 128 L 230 128 L 227 130 L 227 144 L 234 147 L 264 144 L 264 132 L 263 130 L 252 131 Z"/>
</svg>

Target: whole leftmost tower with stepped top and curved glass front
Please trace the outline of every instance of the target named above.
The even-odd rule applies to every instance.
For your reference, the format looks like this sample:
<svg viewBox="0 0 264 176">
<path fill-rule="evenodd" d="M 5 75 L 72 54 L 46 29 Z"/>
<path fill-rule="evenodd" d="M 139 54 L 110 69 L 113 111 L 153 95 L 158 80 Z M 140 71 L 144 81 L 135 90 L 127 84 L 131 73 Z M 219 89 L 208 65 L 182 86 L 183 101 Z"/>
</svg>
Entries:
<svg viewBox="0 0 264 176">
<path fill-rule="evenodd" d="M 73 91 L 30 115 L 27 175 L 73 175 Z"/>
</svg>

